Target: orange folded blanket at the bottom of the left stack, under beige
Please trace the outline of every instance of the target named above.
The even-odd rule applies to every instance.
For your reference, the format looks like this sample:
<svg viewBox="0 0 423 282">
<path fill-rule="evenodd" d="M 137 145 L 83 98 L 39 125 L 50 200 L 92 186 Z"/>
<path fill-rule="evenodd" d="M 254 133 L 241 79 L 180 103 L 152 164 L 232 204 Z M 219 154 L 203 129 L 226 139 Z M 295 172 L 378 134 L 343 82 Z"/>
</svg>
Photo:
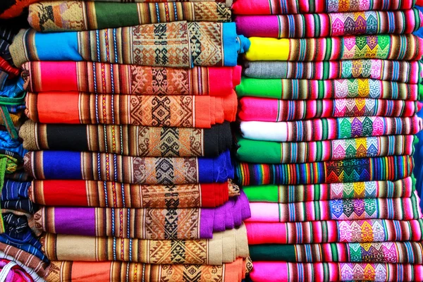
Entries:
<svg viewBox="0 0 423 282">
<path fill-rule="evenodd" d="M 140 264 L 135 262 L 51 262 L 46 281 L 154 282 L 154 281 L 242 281 L 245 261 L 231 264 Z"/>
</svg>

